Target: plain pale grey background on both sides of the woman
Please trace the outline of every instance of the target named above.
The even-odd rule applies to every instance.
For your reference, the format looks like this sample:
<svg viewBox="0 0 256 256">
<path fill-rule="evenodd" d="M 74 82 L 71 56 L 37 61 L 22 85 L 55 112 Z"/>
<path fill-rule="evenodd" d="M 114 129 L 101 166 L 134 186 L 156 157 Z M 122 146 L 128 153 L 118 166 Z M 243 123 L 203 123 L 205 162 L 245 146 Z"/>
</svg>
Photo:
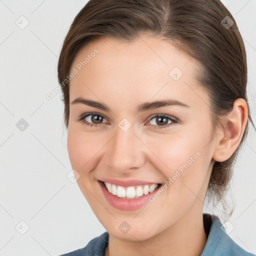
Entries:
<svg viewBox="0 0 256 256">
<path fill-rule="evenodd" d="M 84 247 L 105 231 L 77 184 L 66 177 L 71 165 L 61 92 L 51 100 L 46 98 L 59 88 L 60 47 L 85 3 L 0 0 L 0 255 L 59 255 Z M 256 0 L 223 3 L 234 16 L 246 46 L 248 99 L 255 120 Z M 25 22 L 29 24 L 21 29 Z M 16 126 L 24 124 L 21 118 L 28 124 L 23 131 Z M 254 254 L 255 145 L 255 132 L 250 129 L 231 183 L 234 212 L 225 223 L 229 236 Z M 205 205 L 204 212 L 212 213 L 212 209 Z"/>
</svg>

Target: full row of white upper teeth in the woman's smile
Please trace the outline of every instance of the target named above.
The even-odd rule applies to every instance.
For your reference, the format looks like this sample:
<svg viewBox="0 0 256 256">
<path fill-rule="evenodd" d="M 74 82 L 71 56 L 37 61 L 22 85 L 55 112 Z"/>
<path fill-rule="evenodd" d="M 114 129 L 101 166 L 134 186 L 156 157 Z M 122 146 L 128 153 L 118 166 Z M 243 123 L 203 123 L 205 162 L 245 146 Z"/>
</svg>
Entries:
<svg viewBox="0 0 256 256">
<path fill-rule="evenodd" d="M 104 182 L 104 184 L 109 193 L 125 199 L 133 199 L 133 198 L 142 196 L 144 194 L 151 193 L 155 188 L 158 187 L 157 184 L 128 186 L 128 187 L 117 186 L 114 184 L 110 184 L 108 182 Z"/>
</svg>

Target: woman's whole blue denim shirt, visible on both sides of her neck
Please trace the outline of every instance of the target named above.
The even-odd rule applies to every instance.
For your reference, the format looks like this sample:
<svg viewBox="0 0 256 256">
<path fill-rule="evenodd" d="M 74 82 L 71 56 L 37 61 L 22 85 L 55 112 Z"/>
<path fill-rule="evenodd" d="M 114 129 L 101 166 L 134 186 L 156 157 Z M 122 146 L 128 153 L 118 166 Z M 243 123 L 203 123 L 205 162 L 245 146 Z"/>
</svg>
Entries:
<svg viewBox="0 0 256 256">
<path fill-rule="evenodd" d="M 217 216 L 203 213 L 203 225 L 208 238 L 200 256 L 255 256 L 226 234 Z M 108 232 L 104 232 L 90 240 L 85 247 L 60 256 L 104 256 L 107 244 Z"/>
</svg>

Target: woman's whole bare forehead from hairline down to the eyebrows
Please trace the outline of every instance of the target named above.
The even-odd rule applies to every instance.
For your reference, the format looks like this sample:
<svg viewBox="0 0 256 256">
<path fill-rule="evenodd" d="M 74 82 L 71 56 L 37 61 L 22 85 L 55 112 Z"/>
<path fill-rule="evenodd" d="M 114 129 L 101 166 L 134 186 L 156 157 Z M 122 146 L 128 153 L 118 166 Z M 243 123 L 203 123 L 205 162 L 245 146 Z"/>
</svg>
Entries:
<svg viewBox="0 0 256 256">
<path fill-rule="evenodd" d="M 70 101 L 91 95 L 148 101 L 171 97 L 208 100 L 195 80 L 200 63 L 169 40 L 143 35 L 130 42 L 102 37 L 81 48 L 70 70 Z M 194 92 L 193 92 L 194 91 Z"/>
</svg>

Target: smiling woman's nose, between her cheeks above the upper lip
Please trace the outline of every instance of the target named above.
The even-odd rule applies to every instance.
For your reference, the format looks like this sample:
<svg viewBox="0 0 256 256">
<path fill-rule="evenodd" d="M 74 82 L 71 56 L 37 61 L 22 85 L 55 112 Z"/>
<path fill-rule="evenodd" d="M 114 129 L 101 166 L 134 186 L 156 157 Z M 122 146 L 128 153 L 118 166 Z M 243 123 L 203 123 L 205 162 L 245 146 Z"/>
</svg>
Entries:
<svg viewBox="0 0 256 256">
<path fill-rule="evenodd" d="M 126 131 L 117 127 L 115 135 L 107 145 L 106 165 L 120 173 L 139 168 L 145 162 L 145 148 L 132 126 Z"/>
</svg>

